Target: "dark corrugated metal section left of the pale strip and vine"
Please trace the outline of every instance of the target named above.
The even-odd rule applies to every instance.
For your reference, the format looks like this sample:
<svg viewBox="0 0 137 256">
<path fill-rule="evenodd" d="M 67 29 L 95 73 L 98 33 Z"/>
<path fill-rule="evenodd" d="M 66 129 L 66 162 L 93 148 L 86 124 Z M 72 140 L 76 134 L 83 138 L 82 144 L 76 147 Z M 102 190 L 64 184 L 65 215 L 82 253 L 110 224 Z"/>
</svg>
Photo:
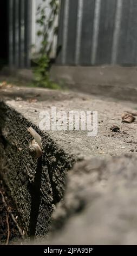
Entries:
<svg viewBox="0 0 137 256">
<path fill-rule="evenodd" d="M 9 66 L 30 67 L 31 0 L 9 0 Z"/>
</svg>

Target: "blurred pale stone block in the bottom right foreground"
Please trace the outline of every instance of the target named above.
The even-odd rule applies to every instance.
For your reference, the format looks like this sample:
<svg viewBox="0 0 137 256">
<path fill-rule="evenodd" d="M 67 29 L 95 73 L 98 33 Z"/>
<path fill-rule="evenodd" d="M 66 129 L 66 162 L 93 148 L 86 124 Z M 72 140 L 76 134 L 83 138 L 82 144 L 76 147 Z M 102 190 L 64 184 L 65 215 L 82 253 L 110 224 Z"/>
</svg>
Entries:
<svg viewBox="0 0 137 256">
<path fill-rule="evenodd" d="M 76 164 L 48 244 L 136 245 L 136 165 L 135 155 Z"/>
</svg>

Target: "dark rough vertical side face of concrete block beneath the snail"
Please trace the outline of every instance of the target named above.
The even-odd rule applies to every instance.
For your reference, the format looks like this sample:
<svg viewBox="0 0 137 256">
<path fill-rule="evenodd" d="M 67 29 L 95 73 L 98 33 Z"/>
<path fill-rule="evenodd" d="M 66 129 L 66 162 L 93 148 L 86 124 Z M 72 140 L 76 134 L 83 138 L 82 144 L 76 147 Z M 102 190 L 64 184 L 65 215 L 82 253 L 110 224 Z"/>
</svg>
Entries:
<svg viewBox="0 0 137 256">
<path fill-rule="evenodd" d="M 30 125 L 43 137 L 44 153 L 38 160 L 28 153 L 32 138 L 24 126 Z M 66 171 L 71 168 L 73 157 L 5 103 L 1 103 L 0 155 L 1 176 L 10 188 L 25 233 L 47 234 L 51 212 L 62 197 Z"/>
</svg>

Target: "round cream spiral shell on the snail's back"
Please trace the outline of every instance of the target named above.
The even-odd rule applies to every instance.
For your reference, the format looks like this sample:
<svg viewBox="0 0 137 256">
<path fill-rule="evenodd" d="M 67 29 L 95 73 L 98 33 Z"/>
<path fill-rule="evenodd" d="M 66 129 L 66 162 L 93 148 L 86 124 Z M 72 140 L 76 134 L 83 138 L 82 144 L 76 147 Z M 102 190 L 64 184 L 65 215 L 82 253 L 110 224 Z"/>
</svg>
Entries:
<svg viewBox="0 0 137 256">
<path fill-rule="evenodd" d="M 35 141 L 35 139 L 29 143 L 29 154 L 36 159 L 42 155 L 42 149 L 40 145 L 38 145 L 38 143 Z"/>
</svg>

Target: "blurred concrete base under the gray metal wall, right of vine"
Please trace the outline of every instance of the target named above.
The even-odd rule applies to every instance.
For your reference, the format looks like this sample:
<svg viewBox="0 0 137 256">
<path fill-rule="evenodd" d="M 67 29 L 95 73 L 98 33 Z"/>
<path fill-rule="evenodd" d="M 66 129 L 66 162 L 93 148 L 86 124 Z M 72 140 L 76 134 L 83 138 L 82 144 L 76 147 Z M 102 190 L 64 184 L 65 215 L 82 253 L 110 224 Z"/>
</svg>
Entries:
<svg viewBox="0 0 137 256">
<path fill-rule="evenodd" d="M 51 78 L 73 90 L 136 101 L 137 68 L 121 66 L 53 66 Z"/>
</svg>

